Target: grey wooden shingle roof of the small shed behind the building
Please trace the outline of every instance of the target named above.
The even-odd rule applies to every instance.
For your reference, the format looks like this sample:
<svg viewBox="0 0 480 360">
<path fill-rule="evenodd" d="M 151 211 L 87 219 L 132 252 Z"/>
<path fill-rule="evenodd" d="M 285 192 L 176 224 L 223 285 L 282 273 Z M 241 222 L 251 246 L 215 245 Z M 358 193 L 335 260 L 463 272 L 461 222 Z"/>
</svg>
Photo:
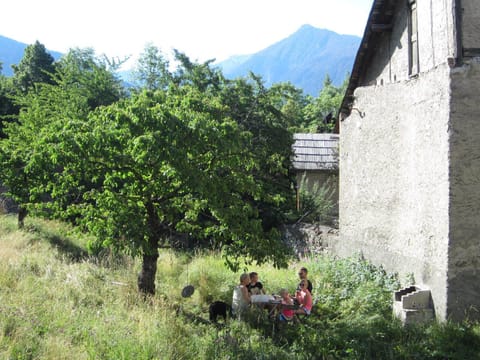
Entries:
<svg viewBox="0 0 480 360">
<path fill-rule="evenodd" d="M 294 134 L 294 170 L 337 170 L 337 134 Z"/>
</svg>

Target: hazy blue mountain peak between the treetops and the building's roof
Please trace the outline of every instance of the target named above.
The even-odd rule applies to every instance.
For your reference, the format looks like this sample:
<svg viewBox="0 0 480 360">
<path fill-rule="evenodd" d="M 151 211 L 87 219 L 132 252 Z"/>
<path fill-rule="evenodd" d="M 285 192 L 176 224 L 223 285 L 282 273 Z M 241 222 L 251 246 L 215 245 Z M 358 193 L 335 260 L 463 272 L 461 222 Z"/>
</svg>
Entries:
<svg viewBox="0 0 480 360">
<path fill-rule="evenodd" d="M 261 75 L 267 86 L 291 82 L 317 96 L 328 74 L 341 85 L 352 70 L 361 38 L 303 25 L 297 32 L 252 55 L 234 56 L 217 64 L 227 78 Z"/>
</svg>

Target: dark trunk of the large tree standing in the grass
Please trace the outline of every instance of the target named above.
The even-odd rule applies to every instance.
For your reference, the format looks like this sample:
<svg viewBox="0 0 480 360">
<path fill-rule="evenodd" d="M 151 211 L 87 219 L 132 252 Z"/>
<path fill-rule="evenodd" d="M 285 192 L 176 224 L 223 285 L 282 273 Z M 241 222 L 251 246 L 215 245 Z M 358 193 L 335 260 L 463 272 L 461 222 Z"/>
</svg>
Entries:
<svg viewBox="0 0 480 360">
<path fill-rule="evenodd" d="M 158 246 L 163 233 L 155 206 L 152 202 L 145 204 L 149 230 L 148 242 L 143 246 L 142 271 L 138 274 L 138 290 L 145 295 L 155 294 L 155 275 L 157 274 Z"/>
</svg>

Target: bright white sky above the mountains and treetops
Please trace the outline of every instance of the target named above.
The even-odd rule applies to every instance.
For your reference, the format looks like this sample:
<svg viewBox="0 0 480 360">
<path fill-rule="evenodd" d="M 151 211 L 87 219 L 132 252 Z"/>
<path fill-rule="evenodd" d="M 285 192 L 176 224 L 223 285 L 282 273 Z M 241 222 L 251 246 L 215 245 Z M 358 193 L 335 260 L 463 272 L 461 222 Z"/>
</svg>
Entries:
<svg viewBox="0 0 480 360">
<path fill-rule="evenodd" d="M 373 0 L 8 0 L 0 35 L 65 53 L 138 57 L 152 44 L 192 60 L 253 54 L 302 25 L 362 36 Z"/>
</svg>

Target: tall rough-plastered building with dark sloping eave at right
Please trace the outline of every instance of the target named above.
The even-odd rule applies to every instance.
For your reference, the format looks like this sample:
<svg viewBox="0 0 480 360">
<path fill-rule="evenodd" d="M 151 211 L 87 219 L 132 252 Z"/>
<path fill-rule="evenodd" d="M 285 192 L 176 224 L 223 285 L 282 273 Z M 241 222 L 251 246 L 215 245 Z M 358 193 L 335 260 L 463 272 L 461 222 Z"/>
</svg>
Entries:
<svg viewBox="0 0 480 360">
<path fill-rule="evenodd" d="M 480 1 L 375 0 L 340 109 L 339 255 L 480 318 Z"/>
</svg>

